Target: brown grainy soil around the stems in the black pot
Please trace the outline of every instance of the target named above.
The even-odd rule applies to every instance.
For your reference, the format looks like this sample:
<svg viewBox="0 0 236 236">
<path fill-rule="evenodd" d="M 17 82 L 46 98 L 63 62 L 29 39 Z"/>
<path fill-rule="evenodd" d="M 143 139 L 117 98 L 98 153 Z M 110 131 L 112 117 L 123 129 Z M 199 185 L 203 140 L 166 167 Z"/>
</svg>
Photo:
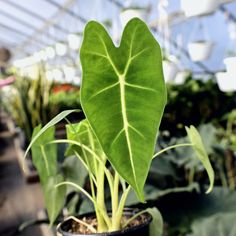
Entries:
<svg viewBox="0 0 236 236">
<path fill-rule="evenodd" d="M 132 216 L 123 216 L 121 224 L 124 225 L 125 222 L 127 222 L 127 220 L 129 220 L 129 218 L 131 218 L 131 217 Z M 84 221 L 86 224 L 89 224 L 89 225 L 93 226 L 93 228 L 97 229 L 97 219 L 96 218 L 83 217 L 80 220 Z M 147 220 L 148 220 L 147 215 L 142 214 L 142 215 L 138 216 L 137 218 L 135 218 L 134 220 L 132 220 L 130 222 L 130 224 L 128 224 L 128 226 L 122 230 L 126 230 L 128 228 L 132 228 L 132 227 L 141 225 L 141 224 L 145 223 Z M 91 232 L 91 230 L 89 230 L 86 226 L 79 224 L 76 221 L 73 221 L 72 225 L 71 225 L 71 229 L 69 230 L 69 233 L 92 234 L 93 232 Z"/>
</svg>

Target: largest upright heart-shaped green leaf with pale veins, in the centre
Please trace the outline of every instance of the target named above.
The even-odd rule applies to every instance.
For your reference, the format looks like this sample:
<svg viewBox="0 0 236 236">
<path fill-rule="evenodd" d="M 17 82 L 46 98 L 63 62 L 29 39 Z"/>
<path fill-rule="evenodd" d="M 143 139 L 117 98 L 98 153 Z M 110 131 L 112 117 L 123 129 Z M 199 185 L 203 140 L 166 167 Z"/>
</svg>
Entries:
<svg viewBox="0 0 236 236">
<path fill-rule="evenodd" d="M 113 167 L 143 201 L 166 104 L 160 46 L 138 18 L 126 25 L 119 47 L 91 21 L 80 57 L 86 118 Z"/>
</svg>

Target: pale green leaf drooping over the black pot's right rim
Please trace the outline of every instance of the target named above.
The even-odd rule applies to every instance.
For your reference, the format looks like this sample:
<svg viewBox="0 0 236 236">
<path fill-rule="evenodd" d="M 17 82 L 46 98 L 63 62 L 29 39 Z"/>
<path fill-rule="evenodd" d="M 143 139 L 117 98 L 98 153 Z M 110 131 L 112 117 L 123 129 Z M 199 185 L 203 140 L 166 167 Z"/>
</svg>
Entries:
<svg viewBox="0 0 236 236">
<path fill-rule="evenodd" d="M 150 236 L 162 236 L 163 219 L 161 213 L 156 207 L 148 208 L 147 212 L 152 216 L 152 222 L 149 226 Z"/>
</svg>

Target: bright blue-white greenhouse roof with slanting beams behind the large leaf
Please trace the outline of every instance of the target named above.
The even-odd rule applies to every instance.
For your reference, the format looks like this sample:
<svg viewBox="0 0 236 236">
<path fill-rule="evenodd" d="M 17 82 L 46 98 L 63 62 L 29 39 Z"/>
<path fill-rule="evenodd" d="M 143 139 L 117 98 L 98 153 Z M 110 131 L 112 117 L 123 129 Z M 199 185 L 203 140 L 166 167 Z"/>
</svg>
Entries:
<svg viewBox="0 0 236 236">
<path fill-rule="evenodd" d="M 227 54 L 236 52 L 236 1 L 214 1 L 214 11 L 189 16 L 183 11 L 184 0 L 1 0 L 0 47 L 11 51 L 12 63 L 32 56 L 50 60 L 55 54 L 57 60 L 51 63 L 76 61 L 87 21 L 102 22 L 118 43 L 123 29 L 122 12 L 135 6 L 143 8 L 143 19 L 164 52 L 178 60 L 180 67 L 213 74 L 224 69 L 223 58 Z M 200 1 L 194 2 L 199 5 Z M 191 58 L 189 44 L 203 40 L 211 42 L 210 57 Z"/>
</svg>

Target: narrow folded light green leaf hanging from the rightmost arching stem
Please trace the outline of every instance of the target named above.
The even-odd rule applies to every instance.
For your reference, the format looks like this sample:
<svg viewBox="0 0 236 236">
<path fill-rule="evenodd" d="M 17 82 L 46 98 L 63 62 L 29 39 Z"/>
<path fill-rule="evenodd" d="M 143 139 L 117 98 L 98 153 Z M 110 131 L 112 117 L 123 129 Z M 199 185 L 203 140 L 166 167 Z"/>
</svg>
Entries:
<svg viewBox="0 0 236 236">
<path fill-rule="evenodd" d="M 202 162 L 209 176 L 210 186 L 208 190 L 206 191 L 206 193 L 209 193 L 212 191 L 213 186 L 214 186 L 214 170 L 212 169 L 207 152 L 202 142 L 202 138 L 200 134 L 198 133 L 197 129 L 192 125 L 190 126 L 190 128 L 185 127 L 185 129 L 187 131 L 187 134 L 191 143 L 193 144 L 193 149 L 195 150 L 199 160 Z"/>
</svg>

